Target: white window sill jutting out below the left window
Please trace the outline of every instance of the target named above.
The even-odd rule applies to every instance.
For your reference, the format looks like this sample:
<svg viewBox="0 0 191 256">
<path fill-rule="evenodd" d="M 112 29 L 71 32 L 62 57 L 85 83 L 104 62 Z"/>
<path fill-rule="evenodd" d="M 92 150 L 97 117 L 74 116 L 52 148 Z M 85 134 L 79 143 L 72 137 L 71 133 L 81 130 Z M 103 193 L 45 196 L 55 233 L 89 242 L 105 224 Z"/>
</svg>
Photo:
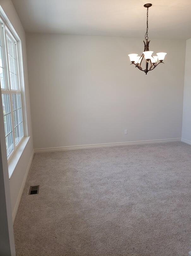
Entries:
<svg viewBox="0 0 191 256">
<path fill-rule="evenodd" d="M 8 169 L 9 169 L 9 179 L 11 177 L 11 175 L 13 174 L 15 167 L 22 155 L 22 152 L 24 151 L 27 142 L 29 141 L 30 136 L 28 137 L 24 137 L 20 143 L 20 145 L 18 146 L 18 148 L 15 150 L 15 152 L 13 153 L 13 155 L 11 156 L 11 158 L 8 161 Z"/>
</svg>

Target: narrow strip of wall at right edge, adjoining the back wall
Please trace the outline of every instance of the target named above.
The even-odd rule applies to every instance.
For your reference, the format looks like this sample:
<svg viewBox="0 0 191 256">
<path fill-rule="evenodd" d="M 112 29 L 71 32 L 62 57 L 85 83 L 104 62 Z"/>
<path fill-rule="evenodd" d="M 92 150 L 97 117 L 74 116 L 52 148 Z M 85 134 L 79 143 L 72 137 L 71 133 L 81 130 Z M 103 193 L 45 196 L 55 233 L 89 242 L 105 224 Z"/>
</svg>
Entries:
<svg viewBox="0 0 191 256">
<path fill-rule="evenodd" d="M 191 144 L 191 39 L 186 41 L 186 60 L 184 76 L 184 104 L 182 118 L 182 139 Z"/>
</svg>

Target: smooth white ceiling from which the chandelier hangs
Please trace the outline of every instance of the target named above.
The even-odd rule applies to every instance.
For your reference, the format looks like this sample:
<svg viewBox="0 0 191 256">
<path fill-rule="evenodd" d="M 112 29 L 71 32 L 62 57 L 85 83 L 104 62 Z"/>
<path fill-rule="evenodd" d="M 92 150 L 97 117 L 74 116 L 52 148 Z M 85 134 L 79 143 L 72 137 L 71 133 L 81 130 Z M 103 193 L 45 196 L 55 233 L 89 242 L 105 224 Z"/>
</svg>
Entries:
<svg viewBox="0 0 191 256">
<path fill-rule="evenodd" d="M 12 0 L 27 32 L 144 37 L 147 0 Z M 148 0 L 150 1 L 150 0 Z M 191 38 L 191 0 L 151 0 L 149 38 Z"/>
</svg>

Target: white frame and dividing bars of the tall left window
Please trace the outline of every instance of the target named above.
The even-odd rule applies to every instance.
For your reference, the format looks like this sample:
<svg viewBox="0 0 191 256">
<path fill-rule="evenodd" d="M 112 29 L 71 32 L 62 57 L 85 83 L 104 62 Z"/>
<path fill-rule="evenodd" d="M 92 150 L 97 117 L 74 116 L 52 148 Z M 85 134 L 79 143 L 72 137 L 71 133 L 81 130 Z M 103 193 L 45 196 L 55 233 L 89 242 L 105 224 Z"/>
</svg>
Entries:
<svg viewBox="0 0 191 256">
<path fill-rule="evenodd" d="M 15 56 L 16 56 L 16 73 L 17 75 L 17 83 L 18 83 L 18 89 L 13 90 L 10 88 L 10 74 L 9 74 L 9 60 L 8 60 L 8 48 L 7 48 L 7 39 L 6 36 L 9 36 L 12 41 L 14 41 L 16 47 L 15 47 Z M 12 136 L 13 136 L 13 151 L 8 156 L 8 161 L 11 159 L 13 154 L 15 153 L 15 150 L 20 146 L 21 142 L 23 141 L 23 138 L 26 136 L 25 134 L 25 123 L 23 118 L 23 104 L 22 104 L 22 79 L 21 79 L 21 72 L 22 70 L 22 61 L 21 61 L 21 52 L 19 43 L 21 43 L 21 40 L 18 38 L 18 35 L 14 35 L 13 31 L 10 29 L 10 27 L 3 22 L 3 19 L 0 16 L 0 36 L 2 38 L 2 61 L 3 61 L 3 75 L 4 75 L 4 82 L 5 82 L 5 89 L 1 89 L 2 94 L 9 94 L 9 102 L 10 102 L 10 112 L 11 112 L 11 125 L 12 125 Z M 3 50 L 4 49 L 4 50 Z M 21 72 L 20 72 L 21 71 Z M 14 128 L 14 114 L 13 114 L 13 104 L 12 104 L 12 94 L 20 94 L 21 99 L 21 120 L 22 120 L 22 132 L 23 135 L 21 139 L 18 141 L 18 143 L 15 143 L 15 128 Z M 18 125 L 18 124 L 17 124 Z"/>
</svg>

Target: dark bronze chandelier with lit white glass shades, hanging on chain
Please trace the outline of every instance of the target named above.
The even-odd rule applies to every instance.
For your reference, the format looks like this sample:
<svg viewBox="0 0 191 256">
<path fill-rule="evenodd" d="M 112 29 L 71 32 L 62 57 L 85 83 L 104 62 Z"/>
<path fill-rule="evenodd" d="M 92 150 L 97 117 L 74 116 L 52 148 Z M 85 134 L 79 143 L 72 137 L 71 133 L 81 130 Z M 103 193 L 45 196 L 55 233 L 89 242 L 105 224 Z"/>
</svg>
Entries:
<svg viewBox="0 0 191 256">
<path fill-rule="evenodd" d="M 147 8 L 147 18 L 146 18 L 146 34 L 145 34 L 145 41 L 144 42 L 144 51 L 141 56 L 138 56 L 138 54 L 129 54 L 130 61 L 132 62 L 130 65 L 134 64 L 135 67 L 137 67 L 139 70 L 144 71 L 145 74 L 147 74 L 149 71 L 155 69 L 159 63 L 164 63 L 164 57 L 166 55 L 165 52 L 158 52 L 157 56 L 152 56 L 153 51 L 149 51 L 149 43 L 148 41 L 148 13 L 149 13 L 149 7 L 152 6 L 152 3 L 146 3 L 144 4 L 144 7 Z M 145 57 L 146 60 L 146 69 L 143 69 L 141 67 L 143 59 Z M 158 62 L 159 61 L 159 62 Z M 158 63 L 157 63 L 158 62 Z"/>
</svg>

